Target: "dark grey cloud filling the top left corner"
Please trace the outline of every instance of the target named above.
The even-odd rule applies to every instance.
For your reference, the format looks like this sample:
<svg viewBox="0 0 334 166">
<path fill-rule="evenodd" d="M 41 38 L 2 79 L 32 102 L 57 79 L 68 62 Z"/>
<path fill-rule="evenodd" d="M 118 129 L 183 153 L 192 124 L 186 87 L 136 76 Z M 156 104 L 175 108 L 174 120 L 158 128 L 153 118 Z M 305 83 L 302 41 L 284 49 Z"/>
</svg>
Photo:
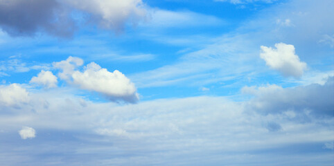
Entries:
<svg viewBox="0 0 334 166">
<path fill-rule="evenodd" d="M 0 28 L 12 36 L 35 35 L 42 30 L 67 37 L 74 26 L 58 1 L 0 0 Z"/>
</svg>

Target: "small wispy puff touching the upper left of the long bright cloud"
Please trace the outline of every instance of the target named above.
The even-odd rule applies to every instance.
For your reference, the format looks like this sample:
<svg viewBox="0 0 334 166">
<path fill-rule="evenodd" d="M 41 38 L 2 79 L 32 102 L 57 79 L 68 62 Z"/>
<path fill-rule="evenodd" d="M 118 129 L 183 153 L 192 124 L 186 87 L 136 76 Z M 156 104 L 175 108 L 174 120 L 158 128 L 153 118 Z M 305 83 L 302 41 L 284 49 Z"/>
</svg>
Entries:
<svg viewBox="0 0 334 166">
<path fill-rule="evenodd" d="M 74 70 L 78 66 L 82 66 L 82 64 L 82 59 L 69 56 L 66 60 L 60 62 L 53 62 L 53 67 L 62 70 L 62 73 L 58 73 L 60 79 L 69 80 L 71 78 L 71 75 L 74 73 Z"/>
</svg>

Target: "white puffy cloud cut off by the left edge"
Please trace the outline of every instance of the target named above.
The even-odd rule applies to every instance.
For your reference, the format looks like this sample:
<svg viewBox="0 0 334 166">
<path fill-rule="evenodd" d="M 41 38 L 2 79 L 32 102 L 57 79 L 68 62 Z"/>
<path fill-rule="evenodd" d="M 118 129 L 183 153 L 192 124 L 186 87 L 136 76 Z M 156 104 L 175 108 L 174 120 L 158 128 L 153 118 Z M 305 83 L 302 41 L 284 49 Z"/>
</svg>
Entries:
<svg viewBox="0 0 334 166">
<path fill-rule="evenodd" d="M 19 103 L 28 102 L 28 100 L 28 91 L 19 86 L 19 84 L 0 86 L 0 104 L 16 106 Z"/>
</svg>

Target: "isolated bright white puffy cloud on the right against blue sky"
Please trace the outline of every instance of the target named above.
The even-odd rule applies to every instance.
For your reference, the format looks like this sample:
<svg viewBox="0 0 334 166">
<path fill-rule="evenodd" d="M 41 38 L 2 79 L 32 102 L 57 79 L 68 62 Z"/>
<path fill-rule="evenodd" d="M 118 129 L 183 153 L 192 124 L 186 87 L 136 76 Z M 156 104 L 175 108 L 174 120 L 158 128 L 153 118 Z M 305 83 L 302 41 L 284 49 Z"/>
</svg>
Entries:
<svg viewBox="0 0 334 166">
<path fill-rule="evenodd" d="M 267 66 L 280 71 L 287 77 L 299 78 L 306 70 L 306 63 L 301 62 L 295 54 L 295 46 L 290 44 L 275 44 L 275 48 L 261 46 L 260 57 Z"/>
</svg>

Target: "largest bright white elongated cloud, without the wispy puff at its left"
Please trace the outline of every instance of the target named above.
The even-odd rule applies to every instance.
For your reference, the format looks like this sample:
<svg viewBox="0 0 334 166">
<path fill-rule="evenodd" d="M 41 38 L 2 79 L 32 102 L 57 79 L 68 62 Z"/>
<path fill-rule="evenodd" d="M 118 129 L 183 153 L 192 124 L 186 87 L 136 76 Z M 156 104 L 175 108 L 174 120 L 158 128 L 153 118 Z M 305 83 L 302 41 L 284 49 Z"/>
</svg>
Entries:
<svg viewBox="0 0 334 166">
<path fill-rule="evenodd" d="M 136 87 L 123 73 L 115 70 L 113 73 L 91 62 L 85 71 L 75 71 L 72 75 L 73 84 L 81 89 L 103 93 L 110 100 L 125 100 L 137 102 L 139 99 Z"/>
</svg>

